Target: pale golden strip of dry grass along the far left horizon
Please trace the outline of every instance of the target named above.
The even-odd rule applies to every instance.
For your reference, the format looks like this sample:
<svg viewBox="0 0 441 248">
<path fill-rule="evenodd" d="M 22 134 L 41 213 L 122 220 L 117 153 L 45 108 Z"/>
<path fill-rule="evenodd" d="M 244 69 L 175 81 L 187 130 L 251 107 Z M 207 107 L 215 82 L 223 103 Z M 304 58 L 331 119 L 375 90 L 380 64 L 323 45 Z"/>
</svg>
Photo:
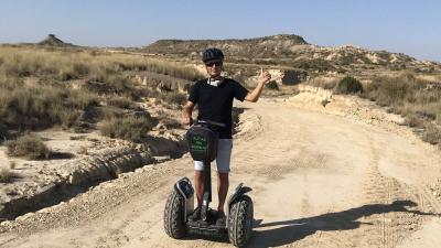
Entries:
<svg viewBox="0 0 441 248">
<path fill-rule="evenodd" d="M 45 76 L 58 80 L 109 75 L 125 71 L 148 71 L 194 80 L 200 73 L 181 64 L 140 55 L 92 53 L 87 50 L 44 50 L 0 46 L 0 74 L 7 76 Z"/>
</svg>

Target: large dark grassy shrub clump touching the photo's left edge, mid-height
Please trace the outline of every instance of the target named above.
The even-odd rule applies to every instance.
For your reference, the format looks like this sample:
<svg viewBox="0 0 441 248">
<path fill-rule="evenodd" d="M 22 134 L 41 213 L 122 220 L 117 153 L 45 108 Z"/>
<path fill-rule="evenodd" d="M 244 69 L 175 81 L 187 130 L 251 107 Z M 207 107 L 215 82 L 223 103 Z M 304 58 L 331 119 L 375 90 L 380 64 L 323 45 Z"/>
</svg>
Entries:
<svg viewBox="0 0 441 248">
<path fill-rule="evenodd" d="M 98 104 L 97 98 L 58 86 L 15 87 L 0 91 L 0 118 L 20 130 L 54 125 L 68 128 L 79 120 L 82 111 Z"/>
</svg>

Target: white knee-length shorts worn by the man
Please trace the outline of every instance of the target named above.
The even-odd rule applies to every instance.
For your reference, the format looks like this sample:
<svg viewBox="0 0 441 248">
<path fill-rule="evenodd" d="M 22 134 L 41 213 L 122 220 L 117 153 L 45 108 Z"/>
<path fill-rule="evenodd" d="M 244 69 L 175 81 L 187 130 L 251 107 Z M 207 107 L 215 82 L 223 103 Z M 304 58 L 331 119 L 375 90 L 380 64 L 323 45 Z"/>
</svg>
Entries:
<svg viewBox="0 0 441 248">
<path fill-rule="evenodd" d="M 219 139 L 217 142 L 217 157 L 216 165 L 218 172 L 229 172 L 229 161 L 232 159 L 233 140 Z M 204 163 L 202 161 L 194 161 L 194 170 L 203 171 Z"/>
</svg>

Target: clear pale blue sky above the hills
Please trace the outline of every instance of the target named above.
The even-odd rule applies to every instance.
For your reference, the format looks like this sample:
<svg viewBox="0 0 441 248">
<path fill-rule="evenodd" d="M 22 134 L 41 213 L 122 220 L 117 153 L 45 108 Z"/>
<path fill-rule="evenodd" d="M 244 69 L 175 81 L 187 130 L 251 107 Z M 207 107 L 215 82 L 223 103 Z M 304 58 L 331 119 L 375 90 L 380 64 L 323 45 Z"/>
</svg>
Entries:
<svg viewBox="0 0 441 248">
<path fill-rule="evenodd" d="M 441 62 L 441 1 L 0 1 L 0 43 L 40 42 L 50 33 L 86 46 L 297 34 L 310 44 L 352 44 Z"/>
</svg>

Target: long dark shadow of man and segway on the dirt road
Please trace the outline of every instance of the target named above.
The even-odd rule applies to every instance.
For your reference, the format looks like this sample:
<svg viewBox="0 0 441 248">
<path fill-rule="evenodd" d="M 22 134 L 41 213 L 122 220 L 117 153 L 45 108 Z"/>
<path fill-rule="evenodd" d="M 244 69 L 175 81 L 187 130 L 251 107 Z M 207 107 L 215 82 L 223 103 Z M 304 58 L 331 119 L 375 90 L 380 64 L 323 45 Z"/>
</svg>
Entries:
<svg viewBox="0 0 441 248">
<path fill-rule="evenodd" d="M 318 230 L 348 230 L 356 229 L 362 224 L 373 225 L 372 223 L 362 223 L 361 217 L 384 214 L 390 212 L 407 212 L 416 215 L 439 214 L 422 213 L 420 211 L 410 211 L 406 207 L 415 207 L 417 204 L 412 201 L 395 201 L 391 204 L 368 204 L 361 207 L 351 208 L 338 213 L 327 213 L 314 217 L 291 219 L 283 222 L 258 224 L 255 227 L 282 226 L 268 230 L 254 230 L 248 247 L 278 247 L 301 240 Z M 261 220 L 260 220 L 261 222 Z"/>
</svg>

